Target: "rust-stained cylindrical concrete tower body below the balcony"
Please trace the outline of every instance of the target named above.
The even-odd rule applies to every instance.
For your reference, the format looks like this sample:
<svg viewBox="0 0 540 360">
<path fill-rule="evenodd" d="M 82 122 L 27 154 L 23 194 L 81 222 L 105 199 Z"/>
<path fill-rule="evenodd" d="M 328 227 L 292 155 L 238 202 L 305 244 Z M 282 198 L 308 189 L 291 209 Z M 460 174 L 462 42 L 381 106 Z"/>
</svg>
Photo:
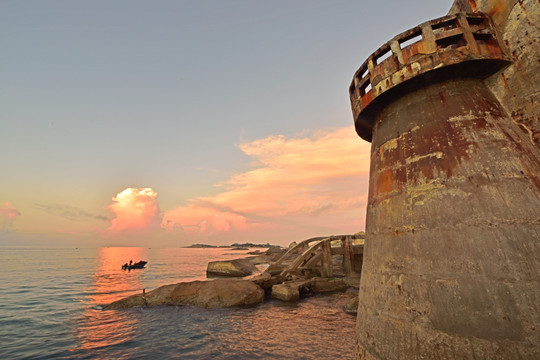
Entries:
<svg viewBox="0 0 540 360">
<path fill-rule="evenodd" d="M 372 144 L 360 358 L 536 359 L 534 146 L 479 79 L 397 99 Z"/>
</svg>

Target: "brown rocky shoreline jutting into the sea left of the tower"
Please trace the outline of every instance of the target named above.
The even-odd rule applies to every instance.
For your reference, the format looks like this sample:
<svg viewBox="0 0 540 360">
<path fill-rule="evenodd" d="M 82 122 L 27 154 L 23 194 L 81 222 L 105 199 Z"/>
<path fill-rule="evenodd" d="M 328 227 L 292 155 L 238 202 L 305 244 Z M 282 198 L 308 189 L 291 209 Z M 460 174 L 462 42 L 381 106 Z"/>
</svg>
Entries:
<svg viewBox="0 0 540 360">
<path fill-rule="evenodd" d="M 277 264 L 289 252 L 290 249 L 272 246 L 246 258 L 213 261 L 208 263 L 206 281 L 169 284 L 149 292 L 143 290 L 105 305 L 103 309 L 157 305 L 193 305 L 206 309 L 253 306 L 269 298 L 295 302 L 313 294 L 344 292 L 351 286 L 358 287 L 358 279 L 285 274 L 284 266 Z M 357 304 L 356 296 L 343 306 L 343 310 L 355 314 Z"/>
</svg>

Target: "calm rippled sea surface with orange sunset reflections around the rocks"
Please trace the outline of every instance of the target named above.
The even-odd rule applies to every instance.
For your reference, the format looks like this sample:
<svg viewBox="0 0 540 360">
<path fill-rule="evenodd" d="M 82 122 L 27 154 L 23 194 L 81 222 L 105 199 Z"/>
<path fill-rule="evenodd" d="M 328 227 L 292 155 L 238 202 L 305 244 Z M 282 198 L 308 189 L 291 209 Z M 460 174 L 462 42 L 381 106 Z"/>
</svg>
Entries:
<svg viewBox="0 0 540 360">
<path fill-rule="evenodd" d="M 100 305 L 158 286 L 205 279 L 230 249 L 0 248 L 0 359 L 351 359 L 352 294 L 250 308 Z M 129 260 L 144 270 L 122 271 Z"/>
</svg>

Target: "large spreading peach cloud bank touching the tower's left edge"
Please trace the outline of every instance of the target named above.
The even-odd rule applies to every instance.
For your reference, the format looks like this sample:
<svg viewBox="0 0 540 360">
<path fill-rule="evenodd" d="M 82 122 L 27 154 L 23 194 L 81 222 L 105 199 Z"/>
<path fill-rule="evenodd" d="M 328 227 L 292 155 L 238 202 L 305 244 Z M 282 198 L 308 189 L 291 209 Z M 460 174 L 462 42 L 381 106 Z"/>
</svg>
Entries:
<svg viewBox="0 0 540 360">
<path fill-rule="evenodd" d="M 198 233 L 363 228 L 370 148 L 352 127 L 270 136 L 239 148 L 256 167 L 218 184 L 218 194 L 166 212 L 162 227 Z"/>
</svg>

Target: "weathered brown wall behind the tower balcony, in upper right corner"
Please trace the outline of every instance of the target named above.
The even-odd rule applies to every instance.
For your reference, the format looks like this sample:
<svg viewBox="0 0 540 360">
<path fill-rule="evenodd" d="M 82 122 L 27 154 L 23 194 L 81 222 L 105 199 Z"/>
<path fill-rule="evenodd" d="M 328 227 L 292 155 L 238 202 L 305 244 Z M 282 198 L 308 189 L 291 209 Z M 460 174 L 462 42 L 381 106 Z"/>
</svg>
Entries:
<svg viewBox="0 0 540 360">
<path fill-rule="evenodd" d="M 539 5 L 539 0 L 457 0 L 450 13 L 481 11 L 492 16 L 513 63 L 486 84 L 540 148 Z"/>
</svg>

